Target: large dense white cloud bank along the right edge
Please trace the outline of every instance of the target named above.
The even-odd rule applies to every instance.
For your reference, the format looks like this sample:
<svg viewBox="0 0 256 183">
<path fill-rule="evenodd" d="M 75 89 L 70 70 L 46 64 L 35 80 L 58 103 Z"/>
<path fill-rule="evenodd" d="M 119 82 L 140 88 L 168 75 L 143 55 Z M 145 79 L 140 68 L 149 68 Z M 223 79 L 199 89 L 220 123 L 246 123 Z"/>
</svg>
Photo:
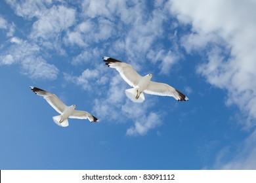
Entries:
<svg viewBox="0 0 256 183">
<path fill-rule="evenodd" d="M 191 53 L 206 52 L 207 61 L 198 73 L 207 82 L 228 91 L 227 105 L 237 105 L 247 117 L 242 125 L 256 125 L 256 16 L 255 1 L 169 1 L 171 13 L 183 24 L 192 25 L 182 45 Z M 255 169 L 255 131 L 241 144 L 227 163 L 218 158 L 230 154 L 228 148 L 217 158 L 219 169 Z"/>
</svg>

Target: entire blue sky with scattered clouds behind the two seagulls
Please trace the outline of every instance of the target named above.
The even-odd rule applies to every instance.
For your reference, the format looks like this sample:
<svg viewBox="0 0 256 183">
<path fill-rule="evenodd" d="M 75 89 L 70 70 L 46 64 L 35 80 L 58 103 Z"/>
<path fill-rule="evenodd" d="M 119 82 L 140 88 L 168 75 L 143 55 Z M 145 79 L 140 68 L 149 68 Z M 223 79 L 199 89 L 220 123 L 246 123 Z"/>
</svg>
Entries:
<svg viewBox="0 0 256 183">
<path fill-rule="evenodd" d="M 0 169 L 256 169 L 254 1 L 0 2 Z M 190 100 L 132 103 L 102 56 Z"/>
</svg>

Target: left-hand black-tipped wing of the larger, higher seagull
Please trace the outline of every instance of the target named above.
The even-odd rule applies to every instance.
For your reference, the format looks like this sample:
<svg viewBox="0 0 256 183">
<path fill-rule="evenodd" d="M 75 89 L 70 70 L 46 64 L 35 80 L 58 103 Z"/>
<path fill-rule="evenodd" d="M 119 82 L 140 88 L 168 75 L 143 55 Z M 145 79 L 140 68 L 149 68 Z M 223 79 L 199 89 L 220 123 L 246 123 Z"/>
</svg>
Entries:
<svg viewBox="0 0 256 183">
<path fill-rule="evenodd" d="M 140 76 L 131 65 L 119 61 L 118 59 L 103 57 L 103 61 L 106 62 L 106 65 L 110 68 L 116 69 L 123 80 L 127 82 L 130 86 L 137 86 L 142 76 Z"/>
</svg>

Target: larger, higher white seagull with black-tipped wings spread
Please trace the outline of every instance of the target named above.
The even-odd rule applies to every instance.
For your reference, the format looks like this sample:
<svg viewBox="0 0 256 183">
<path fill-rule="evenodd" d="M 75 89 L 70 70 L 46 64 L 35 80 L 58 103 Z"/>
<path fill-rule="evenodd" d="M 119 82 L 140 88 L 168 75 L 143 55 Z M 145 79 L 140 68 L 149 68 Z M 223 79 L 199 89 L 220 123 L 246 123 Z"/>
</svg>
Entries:
<svg viewBox="0 0 256 183">
<path fill-rule="evenodd" d="M 123 80 L 133 87 L 125 90 L 125 94 L 135 103 L 142 103 L 145 100 L 143 92 L 152 95 L 174 97 L 177 101 L 188 101 L 188 97 L 172 86 L 151 81 L 152 76 L 154 76 L 152 74 L 140 76 L 128 63 L 106 56 L 102 59 L 108 67 L 116 69 Z"/>
</svg>

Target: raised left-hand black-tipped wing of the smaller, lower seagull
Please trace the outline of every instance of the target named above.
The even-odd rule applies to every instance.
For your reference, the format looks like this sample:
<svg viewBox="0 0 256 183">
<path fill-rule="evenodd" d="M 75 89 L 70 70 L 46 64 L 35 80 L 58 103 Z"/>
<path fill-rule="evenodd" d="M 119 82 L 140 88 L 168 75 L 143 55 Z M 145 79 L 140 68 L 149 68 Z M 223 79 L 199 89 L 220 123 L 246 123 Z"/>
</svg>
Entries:
<svg viewBox="0 0 256 183">
<path fill-rule="evenodd" d="M 62 114 L 67 107 L 60 99 L 53 93 L 46 92 L 40 88 L 30 86 L 30 89 L 37 95 L 42 96 L 51 107 L 53 107 L 58 113 Z"/>
</svg>

